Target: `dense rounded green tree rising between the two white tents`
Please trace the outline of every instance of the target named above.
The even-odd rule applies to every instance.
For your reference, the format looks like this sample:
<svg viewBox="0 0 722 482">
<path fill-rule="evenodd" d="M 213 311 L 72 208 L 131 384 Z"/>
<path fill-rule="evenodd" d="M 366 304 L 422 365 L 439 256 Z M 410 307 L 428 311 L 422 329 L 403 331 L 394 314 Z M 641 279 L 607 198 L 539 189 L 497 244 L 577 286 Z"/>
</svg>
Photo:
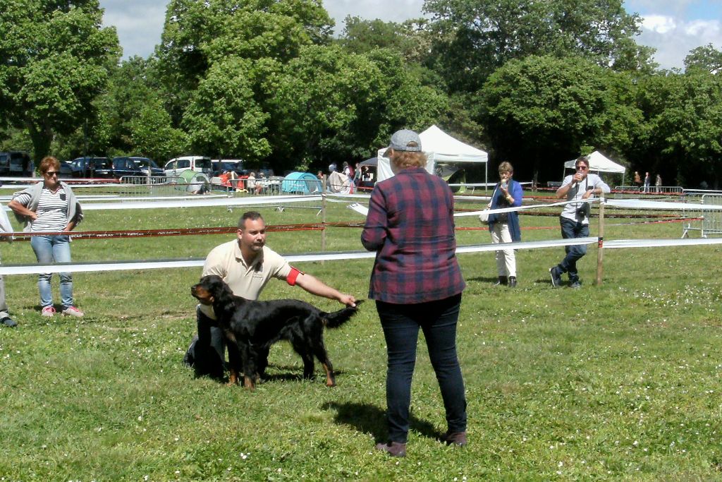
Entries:
<svg viewBox="0 0 722 482">
<path fill-rule="evenodd" d="M 562 161 L 586 146 L 609 152 L 629 144 L 627 129 L 641 115 L 620 102 L 627 80 L 578 57 L 513 60 L 487 79 L 479 116 L 497 158 L 511 160 L 521 176 L 557 178 Z"/>
</svg>

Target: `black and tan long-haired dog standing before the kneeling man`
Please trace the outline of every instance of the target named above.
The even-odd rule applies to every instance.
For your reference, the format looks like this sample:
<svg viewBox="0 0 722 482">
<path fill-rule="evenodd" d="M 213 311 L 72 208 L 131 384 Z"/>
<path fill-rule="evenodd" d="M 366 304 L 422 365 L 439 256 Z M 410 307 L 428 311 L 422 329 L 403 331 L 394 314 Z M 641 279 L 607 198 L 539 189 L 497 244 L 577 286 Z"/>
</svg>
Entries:
<svg viewBox="0 0 722 482">
<path fill-rule="evenodd" d="M 226 337 L 228 384 L 238 383 L 243 369 L 243 386 L 253 389 L 259 371 L 265 369 L 270 346 L 288 340 L 303 358 L 304 378 L 313 377 L 316 356 L 326 371 L 326 386 L 336 386 L 334 369 L 323 345 L 323 328 L 340 327 L 356 313 L 356 307 L 326 313 L 299 300 L 251 301 L 235 296 L 225 281 L 215 275 L 201 277 L 191 287 L 191 294 L 201 304 L 213 306 L 218 327 Z M 356 305 L 360 303 L 357 301 Z"/>
</svg>

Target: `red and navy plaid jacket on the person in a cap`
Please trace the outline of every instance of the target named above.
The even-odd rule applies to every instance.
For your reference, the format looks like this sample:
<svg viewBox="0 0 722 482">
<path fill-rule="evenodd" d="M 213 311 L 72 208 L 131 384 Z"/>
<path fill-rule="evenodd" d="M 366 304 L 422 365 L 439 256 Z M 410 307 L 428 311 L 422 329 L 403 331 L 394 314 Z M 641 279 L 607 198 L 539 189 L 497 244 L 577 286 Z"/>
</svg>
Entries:
<svg viewBox="0 0 722 482">
<path fill-rule="evenodd" d="M 451 189 L 424 168 L 407 168 L 376 184 L 361 243 L 376 251 L 371 299 L 415 304 L 464 291 Z"/>
</svg>

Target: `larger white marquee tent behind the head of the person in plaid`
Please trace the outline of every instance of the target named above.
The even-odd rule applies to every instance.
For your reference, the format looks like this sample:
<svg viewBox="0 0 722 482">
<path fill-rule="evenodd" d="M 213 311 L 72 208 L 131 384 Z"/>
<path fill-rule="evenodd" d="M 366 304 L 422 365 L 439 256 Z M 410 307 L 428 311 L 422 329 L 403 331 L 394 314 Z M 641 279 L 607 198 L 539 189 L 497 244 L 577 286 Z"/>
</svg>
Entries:
<svg viewBox="0 0 722 482">
<path fill-rule="evenodd" d="M 446 134 L 437 126 L 431 126 L 419 134 L 421 148 L 428 158 L 426 170 L 435 173 L 436 163 L 487 163 L 489 155 L 483 150 L 464 144 Z M 388 158 L 383 157 L 386 147 L 378 150 L 378 181 L 393 176 Z"/>
</svg>

